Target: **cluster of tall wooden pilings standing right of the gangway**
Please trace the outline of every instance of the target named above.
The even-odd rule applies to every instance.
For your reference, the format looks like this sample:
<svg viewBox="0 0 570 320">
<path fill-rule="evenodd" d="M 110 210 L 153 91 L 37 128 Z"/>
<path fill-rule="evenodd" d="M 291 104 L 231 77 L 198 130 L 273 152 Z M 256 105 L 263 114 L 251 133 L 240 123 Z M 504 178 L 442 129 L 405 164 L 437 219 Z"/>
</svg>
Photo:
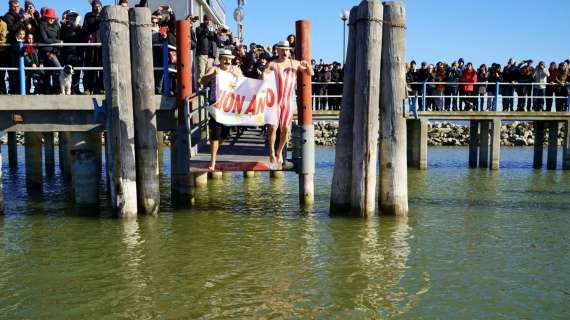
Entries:
<svg viewBox="0 0 570 320">
<path fill-rule="evenodd" d="M 383 214 L 407 215 L 405 25 L 400 2 L 350 11 L 332 213 L 370 216 L 378 201 Z"/>
</svg>

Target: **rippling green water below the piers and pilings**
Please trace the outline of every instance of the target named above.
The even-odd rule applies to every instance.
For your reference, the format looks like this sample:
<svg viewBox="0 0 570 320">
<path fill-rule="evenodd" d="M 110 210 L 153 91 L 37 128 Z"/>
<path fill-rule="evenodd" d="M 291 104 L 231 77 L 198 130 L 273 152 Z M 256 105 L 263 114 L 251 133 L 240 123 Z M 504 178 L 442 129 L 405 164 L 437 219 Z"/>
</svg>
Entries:
<svg viewBox="0 0 570 320">
<path fill-rule="evenodd" d="M 331 149 L 313 209 L 294 174 L 263 174 L 173 210 L 165 175 L 160 217 L 131 221 L 77 212 L 58 172 L 29 195 L 4 168 L 0 318 L 569 319 L 570 173 L 532 170 L 531 149 L 504 148 L 499 172 L 429 156 L 407 220 L 329 217 Z"/>
</svg>

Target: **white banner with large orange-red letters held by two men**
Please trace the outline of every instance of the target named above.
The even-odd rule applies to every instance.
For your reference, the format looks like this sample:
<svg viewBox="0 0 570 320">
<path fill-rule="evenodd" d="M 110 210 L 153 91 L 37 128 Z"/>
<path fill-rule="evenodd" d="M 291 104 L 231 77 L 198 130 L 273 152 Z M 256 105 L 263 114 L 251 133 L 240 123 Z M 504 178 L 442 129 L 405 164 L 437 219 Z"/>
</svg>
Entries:
<svg viewBox="0 0 570 320">
<path fill-rule="evenodd" d="M 275 77 L 257 80 L 226 71 L 216 75 L 216 103 L 209 108 L 217 122 L 227 126 L 277 124 Z"/>
</svg>

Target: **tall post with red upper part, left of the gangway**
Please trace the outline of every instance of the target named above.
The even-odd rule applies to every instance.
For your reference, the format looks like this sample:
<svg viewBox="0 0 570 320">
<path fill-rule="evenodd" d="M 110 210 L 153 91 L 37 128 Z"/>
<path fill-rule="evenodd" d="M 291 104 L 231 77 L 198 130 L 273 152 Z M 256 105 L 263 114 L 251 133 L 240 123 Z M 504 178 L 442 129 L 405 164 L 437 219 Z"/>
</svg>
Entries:
<svg viewBox="0 0 570 320">
<path fill-rule="evenodd" d="M 191 205 L 193 202 L 193 176 L 190 173 L 190 97 L 192 96 L 192 52 L 190 44 L 190 22 L 176 22 L 176 54 L 177 54 L 177 108 L 178 125 L 174 141 L 172 141 L 171 160 L 171 192 L 172 199 L 178 205 Z M 208 175 L 206 174 L 206 181 Z"/>
</svg>

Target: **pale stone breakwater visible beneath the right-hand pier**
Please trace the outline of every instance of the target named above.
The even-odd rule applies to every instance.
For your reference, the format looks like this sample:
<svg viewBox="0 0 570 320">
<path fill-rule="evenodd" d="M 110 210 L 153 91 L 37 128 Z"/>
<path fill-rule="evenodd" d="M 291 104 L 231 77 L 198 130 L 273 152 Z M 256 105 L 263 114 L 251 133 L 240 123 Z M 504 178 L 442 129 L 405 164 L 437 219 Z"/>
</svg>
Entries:
<svg viewBox="0 0 570 320">
<path fill-rule="evenodd" d="M 468 146 L 469 126 L 450 122 L 434 122 L 428 124 L 429 146 Z M 338 122 L 315 123 L 315 143 L 318 146 L 336 145 Z M 546 143 L 545 136 L 544 142 Z M 558 131 L 558 145 L 564 143 L 564 131 Z M 533 146 L 534 127 L 529 122 L 512 122 L 501 126 L 501 145 Z"/>
</svg>

